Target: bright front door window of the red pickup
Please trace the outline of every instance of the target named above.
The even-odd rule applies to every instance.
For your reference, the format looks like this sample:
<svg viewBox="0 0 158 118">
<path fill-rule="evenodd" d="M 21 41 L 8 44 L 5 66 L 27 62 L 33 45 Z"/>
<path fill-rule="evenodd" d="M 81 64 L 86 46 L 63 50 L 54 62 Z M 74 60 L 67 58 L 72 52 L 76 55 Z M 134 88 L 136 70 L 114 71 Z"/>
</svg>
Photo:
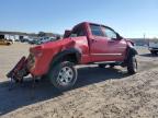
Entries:
<svg viewBox="0 0 158 118">
<path fill-rule="evenodd" d="M 108 38 L 116 38 L 116 33 L 109 27 L 102 27 L 104 36 Z"/>
</svg>

